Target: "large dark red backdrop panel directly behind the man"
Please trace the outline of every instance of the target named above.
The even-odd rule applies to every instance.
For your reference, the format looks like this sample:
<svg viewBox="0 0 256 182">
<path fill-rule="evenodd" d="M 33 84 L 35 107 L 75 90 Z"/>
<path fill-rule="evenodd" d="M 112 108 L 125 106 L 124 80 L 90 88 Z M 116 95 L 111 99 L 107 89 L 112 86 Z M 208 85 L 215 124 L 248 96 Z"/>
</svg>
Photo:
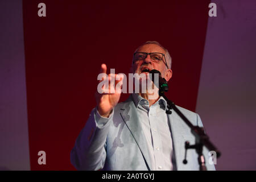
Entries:
<svg viewBox="0 0 256 182">
<path fill-rule="evenodd" d="M 38 16 L 40 2 L 46 17 Z M 172 56 L 167 96 L 195 111 L 209 3 L 23 0 L 31 170 L 75 169 L 69 153 L 96 105 L 101 63 L 127 74 L 147 40 Z M 46 165 L 38 164 L 40 150 Z"/>
</svg>

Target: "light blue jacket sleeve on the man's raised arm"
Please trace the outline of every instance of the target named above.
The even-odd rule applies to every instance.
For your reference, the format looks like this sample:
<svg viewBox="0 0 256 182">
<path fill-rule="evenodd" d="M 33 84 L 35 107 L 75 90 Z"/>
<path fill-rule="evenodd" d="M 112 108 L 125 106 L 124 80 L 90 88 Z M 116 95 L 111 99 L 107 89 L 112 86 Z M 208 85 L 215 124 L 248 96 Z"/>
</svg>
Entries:
<svg viewBox="0 0 256 182">
<path fill-rule="evenodd" d="M 96 108 L 90 113 L 71 151 L 71 163 L 76 169 L 93 171 L 104 167 L 106 137 L 113 112 L 109 118 L 101 117 Z"/>
</svg>

